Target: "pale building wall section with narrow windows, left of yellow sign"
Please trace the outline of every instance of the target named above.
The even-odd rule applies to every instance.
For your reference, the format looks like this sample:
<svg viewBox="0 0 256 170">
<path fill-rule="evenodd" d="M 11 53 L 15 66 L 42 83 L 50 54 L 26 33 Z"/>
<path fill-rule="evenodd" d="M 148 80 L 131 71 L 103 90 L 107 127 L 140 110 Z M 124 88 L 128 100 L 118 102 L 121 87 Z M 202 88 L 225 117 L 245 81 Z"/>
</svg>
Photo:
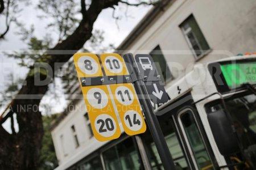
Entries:
<svg viewBox="0 0 256 170">
<path fill-rule="evenodd" d="M 69 160 L 69 158 L 77 154 L 82 147 L 85 147 L 90 142 L 90 136 L 84 117 L 84 114 L 86 113 L 84 101 L 81 100 L 75 105 L 75 107 L 70 107 L 69 109 L 72 111 L 68 114 L 68 116 L 65 117 L 55 129 L 52 130 L 52 139 L 59 164 Z M 80 143 L 80 146 L 77 148 L 71 130 L 72 125 L 75 126 L 77 138 Z M 61 141 L 61 135 L 63 135 L 63 141 Z M 61 142 L 63 142 L 63 144 Z"/>
</svg>

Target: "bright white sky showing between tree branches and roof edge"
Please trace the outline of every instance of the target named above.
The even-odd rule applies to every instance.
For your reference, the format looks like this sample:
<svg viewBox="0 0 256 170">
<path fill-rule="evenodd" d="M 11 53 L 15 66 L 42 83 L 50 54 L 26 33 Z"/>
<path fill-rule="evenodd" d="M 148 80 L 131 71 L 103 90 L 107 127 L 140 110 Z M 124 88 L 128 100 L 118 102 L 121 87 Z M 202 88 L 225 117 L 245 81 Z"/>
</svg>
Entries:
<svg viewBox="0 0 256 170">
<path fill-rule="evenodd" d="M 36 0 L 38 1 L 38 0 Z M 46 20 L 39 19 L 40 12 L 36 10 L 34 5 L 26 7 L 26 10 L 22 11 L 19 17 L 23 23 L 29 27 L 31 24 L 35 26 L 35 35 L 43 37 L 46 35 Z M 119 5 L 115 11 L 116 16 L 120 16 L 121 20 L 118 20 L 117 24 L 115 19 L 112 18 L 112 8 L 103 10 L 94 23 L 94 29 L 101 29 L 105 32 L 105 43 L 112 43 L 118 46 L 123 39 L 131 32 L 135 25 L 143 18 L 151 6 L 129 6 L 127 8 L 127 16 L 125 16 L 126 5 Z M 3 18 L 0 18 L 0 22 L 3 22 Z M 0 24 L 0 31 L 5 28 L 4 24 Z M 6 40 L 0 42 L 0 50 L 17 50 L 26 48 L 26 44 L 21 41 L 18 35 L 15 34 L 15 27 L 11 28 L 11 31 L 7 33 Z"/>
</svg>

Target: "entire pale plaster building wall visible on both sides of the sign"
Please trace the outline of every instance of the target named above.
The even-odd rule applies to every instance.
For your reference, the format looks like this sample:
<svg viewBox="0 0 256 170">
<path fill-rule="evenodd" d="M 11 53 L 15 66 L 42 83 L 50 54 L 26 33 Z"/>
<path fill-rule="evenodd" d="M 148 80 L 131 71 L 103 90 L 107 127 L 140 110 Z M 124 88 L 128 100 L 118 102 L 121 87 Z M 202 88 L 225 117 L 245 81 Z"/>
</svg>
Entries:
<svg viewBox="0 0 256 170">
<path fill-rule="evenodd" d="M 195 59 L 185 40 L 179 25 L 193 14 L 205 39 L 212 49 L 206 56 Z M 176 0 L 151 25 L 138 36 L 123 53 L 149 53 L 160 45 L 164 57 L 176 80 L 185 71 L 192 69 L 196 62 L 205 63 L 238 53 L 255 52 L 256 50 L 256 1 L 255 0 Z M 170 86 L 175 80 L 167 84 Z M 53 143 L 59 164 L 65 164 L 90 148 L 100 145 L 96 139 L 89 139 L 86 129 L 84 101 L 77 104 L 75 111 L 52 130 Z M 75 148 L 71 126 L 75 125 L 80 147 Z M 60 135 L 64 136 L 64 147 L 61 148 Z M 86 153 L 84 153 L 86 154 Z M 81 157 L 81 156 L 80 156 Z"/>
</svg>

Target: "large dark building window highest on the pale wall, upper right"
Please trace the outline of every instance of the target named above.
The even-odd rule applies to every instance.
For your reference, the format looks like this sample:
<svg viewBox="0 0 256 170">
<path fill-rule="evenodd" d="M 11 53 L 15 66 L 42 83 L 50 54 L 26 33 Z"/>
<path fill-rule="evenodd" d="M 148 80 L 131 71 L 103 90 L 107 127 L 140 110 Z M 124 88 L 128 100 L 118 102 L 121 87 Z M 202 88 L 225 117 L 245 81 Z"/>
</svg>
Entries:
<svg viewBox="0 0 256 170">
<path fill-rule="evenodd" d="M 210 49 L 209 45 L 193 15 L 185 19 L 184 22 L 180 24 L 180 28 L 188 42 L 189 48 L 191 48 L 196 58 L 208 52 Z"/>
</svg>

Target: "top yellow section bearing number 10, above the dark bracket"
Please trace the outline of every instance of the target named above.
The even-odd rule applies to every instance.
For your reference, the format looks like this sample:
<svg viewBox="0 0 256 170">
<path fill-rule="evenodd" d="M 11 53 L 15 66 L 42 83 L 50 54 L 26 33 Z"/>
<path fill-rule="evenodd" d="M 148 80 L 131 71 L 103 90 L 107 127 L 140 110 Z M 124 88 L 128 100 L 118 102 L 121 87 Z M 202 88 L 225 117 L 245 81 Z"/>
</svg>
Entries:
<svg viewBox="0 0 256 170">
<path fill-rule="evenodd" d="M 106 75 L 128 75 L 125 61 L 119 54 L 106 53 L 101 54 L 101 62 Z"/>
</svg>

